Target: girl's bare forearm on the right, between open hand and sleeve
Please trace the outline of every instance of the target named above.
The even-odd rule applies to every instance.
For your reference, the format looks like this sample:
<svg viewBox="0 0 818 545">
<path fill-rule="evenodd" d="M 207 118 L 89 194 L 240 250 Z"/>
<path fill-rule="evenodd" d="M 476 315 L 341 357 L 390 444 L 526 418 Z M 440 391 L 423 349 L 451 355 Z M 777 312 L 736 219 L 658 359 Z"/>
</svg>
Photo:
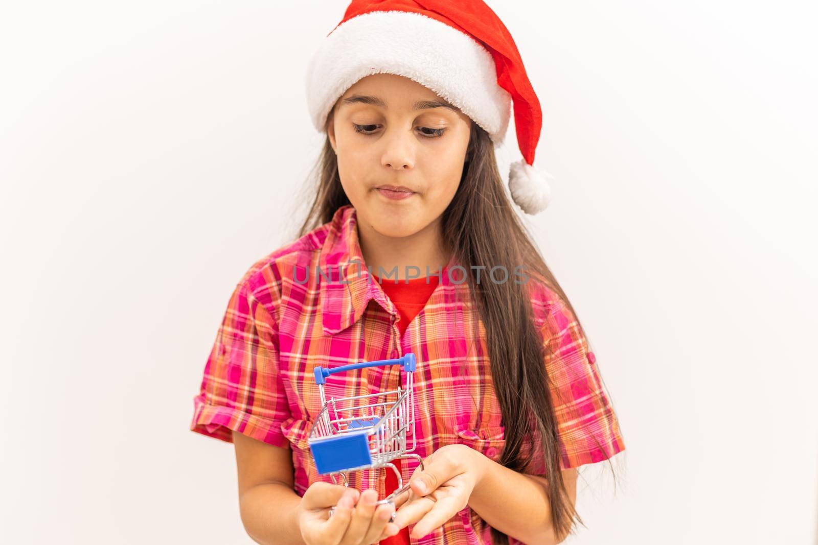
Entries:
<svg viewBox="0 0 818 545">
<path fill-rule="evenodd" d="M 469 499 L 488 525 L 523 543 L 560 543 L 551 524 L 551 502 L 543 477 L 519 473 L 480 455 L 480 480 Z"/>
</svg>

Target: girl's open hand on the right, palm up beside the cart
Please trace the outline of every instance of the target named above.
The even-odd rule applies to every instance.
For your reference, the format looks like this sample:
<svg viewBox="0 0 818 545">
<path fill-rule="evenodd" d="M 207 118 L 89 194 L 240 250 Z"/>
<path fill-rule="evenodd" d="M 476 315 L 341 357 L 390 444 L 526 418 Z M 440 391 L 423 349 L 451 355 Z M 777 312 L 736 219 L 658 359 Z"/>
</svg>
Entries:
<svg viewBox="0 0 818 545">
<path fill-rule="evenodd" d="M 423 461 L 425 470 L 418 466 L 412 473 L 410 489 L 401 494 L 408 498 L 395 511 L 394 524 L 402 529 L 417 522 L 411 531 L 416 539 L 442 526 L 468 505 L 483 478 L 486 459 L 465 444 L 447 444 L 434 451 Z"/>
</svg>

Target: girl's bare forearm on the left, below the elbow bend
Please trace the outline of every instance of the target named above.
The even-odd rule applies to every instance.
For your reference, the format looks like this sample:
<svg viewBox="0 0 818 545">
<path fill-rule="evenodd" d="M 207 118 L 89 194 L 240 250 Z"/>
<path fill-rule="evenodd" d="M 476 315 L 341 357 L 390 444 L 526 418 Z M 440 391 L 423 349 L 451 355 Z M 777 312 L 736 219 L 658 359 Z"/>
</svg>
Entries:
<svg viewBox="0 0 818 545">
<path fill-rule="evenodd" d="M 299 503 L 299 495 L 286 485 L 256 485 L 240 498 L 241 522 L 256 543 L 305 545 L 297 518 Z"/>
</svg>

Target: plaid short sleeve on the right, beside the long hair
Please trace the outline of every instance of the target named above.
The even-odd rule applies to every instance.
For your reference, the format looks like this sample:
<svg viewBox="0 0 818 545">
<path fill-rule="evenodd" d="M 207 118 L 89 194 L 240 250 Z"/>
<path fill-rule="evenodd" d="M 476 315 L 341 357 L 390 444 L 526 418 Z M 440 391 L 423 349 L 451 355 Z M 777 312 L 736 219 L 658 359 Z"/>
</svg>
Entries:
<svg viewBox="0 0 818 545">
<path fill-rule="evenodd" d="M 601 462 L 625 449 L 616 415 L 600 377 L 596 356 L 577 319 L 557 299 L 542 324 L 546 372 L 557 421 L 562 469 Z M 533 471 L 542 474 L 542 449 Z"/>
</svg>

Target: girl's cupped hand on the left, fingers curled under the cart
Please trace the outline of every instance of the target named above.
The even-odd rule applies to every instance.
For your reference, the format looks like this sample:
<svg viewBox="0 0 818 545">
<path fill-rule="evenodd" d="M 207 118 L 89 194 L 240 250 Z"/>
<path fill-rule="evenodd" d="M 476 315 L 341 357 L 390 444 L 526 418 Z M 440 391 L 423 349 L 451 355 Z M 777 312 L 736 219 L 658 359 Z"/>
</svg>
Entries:
<svg viewBox="0 0 818 545">
<path fill-rule="evenodd" d="M 312 483 L 301 498 L 297 514 L 304 543 L 371 545 L 380 538 L 398 534 L 398 525 L 389 522 L 395 507 L 384 503 L 375 509 L 377 499 L 373 489 L 360 494 L 342 485 Z M 329 516 L 333 506 L 335 511 Z"/>
</svg>

